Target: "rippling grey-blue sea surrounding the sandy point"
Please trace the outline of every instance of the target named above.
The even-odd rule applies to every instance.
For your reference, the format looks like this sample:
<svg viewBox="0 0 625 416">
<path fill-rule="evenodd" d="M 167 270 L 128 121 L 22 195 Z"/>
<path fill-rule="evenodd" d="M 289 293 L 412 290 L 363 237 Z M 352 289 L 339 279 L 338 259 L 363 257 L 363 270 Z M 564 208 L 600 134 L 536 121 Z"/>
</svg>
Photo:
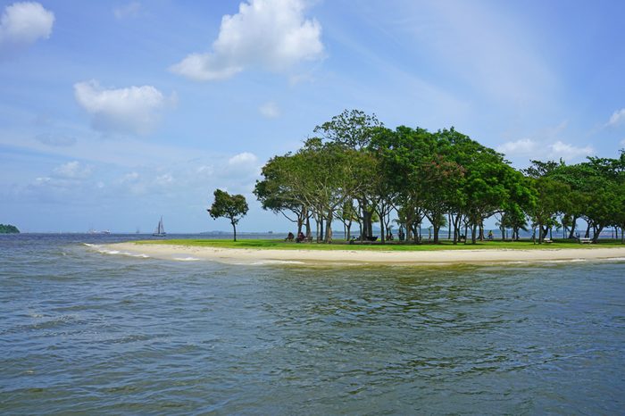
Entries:
<svg viewBox="0 0 625 416">
<path fill-rule="evenodd" d="M 101 249 L 149 237 L 0 236 L 0 414 L 625 413 L 625 259 L 347 267 Z"/>
</svg>

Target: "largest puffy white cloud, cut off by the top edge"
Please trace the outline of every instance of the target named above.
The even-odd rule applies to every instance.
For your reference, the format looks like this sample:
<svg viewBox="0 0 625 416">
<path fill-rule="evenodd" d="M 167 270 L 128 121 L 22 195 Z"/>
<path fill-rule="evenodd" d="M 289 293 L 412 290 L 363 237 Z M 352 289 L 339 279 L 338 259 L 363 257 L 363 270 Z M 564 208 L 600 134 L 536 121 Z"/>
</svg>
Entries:
<svg viewBox="0 0 625 416">
<path fill-rule="evenodd" d="M 321 25 L 304 19 L 304 0 L 250 0 L 221 19 L 212 51 L 189 54 L 171 71 L 189 79 L 229 79 L 247 68 L 286 71 L 321 58 Z"/>
</svg>

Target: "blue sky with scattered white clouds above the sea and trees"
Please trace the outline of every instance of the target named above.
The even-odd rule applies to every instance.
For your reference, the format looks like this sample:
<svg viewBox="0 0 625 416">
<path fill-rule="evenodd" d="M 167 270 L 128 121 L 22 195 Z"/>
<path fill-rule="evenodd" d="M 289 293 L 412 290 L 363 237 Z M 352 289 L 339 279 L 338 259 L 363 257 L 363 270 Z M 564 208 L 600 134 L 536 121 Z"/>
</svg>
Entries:
<svg viewBox="0 0 625 416">
<path fill-rule="evenodd" d="M 252 190 L 345 109 L 504 153 L 625 147 L 625 2 L 0 0 L 0 223 L 286 232 Z"/>
</svg>

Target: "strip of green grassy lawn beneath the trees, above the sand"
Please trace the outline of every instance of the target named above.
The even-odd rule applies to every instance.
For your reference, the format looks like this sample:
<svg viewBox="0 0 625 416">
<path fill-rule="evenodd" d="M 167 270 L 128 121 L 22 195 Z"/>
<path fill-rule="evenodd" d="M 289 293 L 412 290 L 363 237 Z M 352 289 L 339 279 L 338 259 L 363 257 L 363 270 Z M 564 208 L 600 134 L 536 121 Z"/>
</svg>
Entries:
<svg viewBox="0 0 625 416">
<path fill-rule="evenodd" d="M 454 245 L 449 241 L 441 244 L 421 244 L 390 242 L 385 245 L 381 243 L 347 244 L 345 241 L 335 241 L 332 244 L 317 243 L 295 243 L 287 242 L 283 239 L 240 239 L 237 242 L 225 239 L 172 239 L 172 240 L 143 240 L 137 244 L 157 244 L 157 245 L 191 245 L 198 247 L 217 248 L 251 248 L 251 249 L 277 249 L 277 250 L 372 250 L 372 251 L 436 251 L 436 250 L 537 250 L 537 249 L 559 249 L 577 248 L 593 249 L 596 247 L 623 247 L 620 241 L 600 240 L 596 245 L 582 245 L 568 240 L 554 240 L 551 244 L 533 244 L 531 241 L 482 241 L 475 245 L 458 244 Z"/>
</svg>

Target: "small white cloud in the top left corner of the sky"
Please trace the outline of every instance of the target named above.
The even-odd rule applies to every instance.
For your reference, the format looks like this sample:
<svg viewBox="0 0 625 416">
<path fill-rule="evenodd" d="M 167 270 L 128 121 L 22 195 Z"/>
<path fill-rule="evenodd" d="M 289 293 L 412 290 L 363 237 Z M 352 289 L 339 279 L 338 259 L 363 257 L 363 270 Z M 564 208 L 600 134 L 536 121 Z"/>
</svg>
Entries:
<svg viewBox="0 0 625 416">
<path fill-rule="evenodd" d="M 13 3 L 0 18 L 0 46 L 21 46 L 48 38 L 54 25 L 54 13 L 35 2 Z"/>
</svg>

